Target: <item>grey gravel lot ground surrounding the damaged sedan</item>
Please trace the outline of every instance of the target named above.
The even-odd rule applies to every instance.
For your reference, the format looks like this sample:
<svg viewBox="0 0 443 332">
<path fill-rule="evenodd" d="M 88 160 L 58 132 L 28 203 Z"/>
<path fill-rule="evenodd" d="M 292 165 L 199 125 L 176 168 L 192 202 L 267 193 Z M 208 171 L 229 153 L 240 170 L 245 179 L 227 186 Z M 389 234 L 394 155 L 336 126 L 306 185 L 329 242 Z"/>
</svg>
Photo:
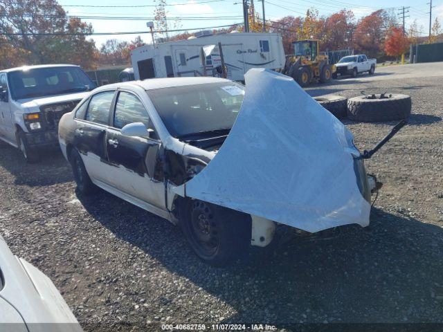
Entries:
<svg viewBox="0 0 443 332">
<path fill-rule="evenodd" d="M 424 68 L 435 67 L 406 69 L 423 75 Z M 384 183 L 369 228 L 252 250 L 229 268 L 212 268 L 167 221 L 105 192 L 76 195 L 60 153 L 23 165 L 16 149 L 1 145 L 0 233 L 12 252 L 53 279 L 86 330 L 131 329 L 123 323 L 152 331 L 161 323 L 443 324 L 439 68 L 432 77 L 390 73 L 309 88 L 311 95 L 386 90 L 412 96 L 408 126 L 367 163 Z M 361 150 L 395 124 L 345 123 Z"/>
</svg>

